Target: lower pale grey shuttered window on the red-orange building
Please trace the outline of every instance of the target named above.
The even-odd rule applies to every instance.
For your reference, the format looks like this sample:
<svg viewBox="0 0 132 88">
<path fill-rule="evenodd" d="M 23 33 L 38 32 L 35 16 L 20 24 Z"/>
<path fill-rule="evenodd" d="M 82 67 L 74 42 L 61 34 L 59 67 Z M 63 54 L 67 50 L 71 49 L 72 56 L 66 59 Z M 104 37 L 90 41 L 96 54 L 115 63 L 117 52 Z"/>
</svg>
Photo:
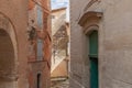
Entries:
<svg viewBox="0 0 132 88">
<path fill-rule="evenodd" d="M 43 41 L 37 38 L 37 61 L 43 61 Z"/>
</svg>

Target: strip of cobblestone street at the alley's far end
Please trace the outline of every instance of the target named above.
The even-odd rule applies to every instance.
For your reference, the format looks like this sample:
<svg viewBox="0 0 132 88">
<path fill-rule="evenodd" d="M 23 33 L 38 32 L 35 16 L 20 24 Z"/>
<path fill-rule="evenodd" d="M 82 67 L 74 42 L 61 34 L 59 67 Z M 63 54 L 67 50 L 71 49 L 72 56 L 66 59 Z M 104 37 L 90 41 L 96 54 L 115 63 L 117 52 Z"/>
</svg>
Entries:
<svg viewBox="0 0 132 88">
<path fill-rule="evenodd" d="M 68 88 L 68 87 L 69 87 L 69 81 L 64 80 L 64 81 L 55 81 L 51 88 Z"/>
</svg>

